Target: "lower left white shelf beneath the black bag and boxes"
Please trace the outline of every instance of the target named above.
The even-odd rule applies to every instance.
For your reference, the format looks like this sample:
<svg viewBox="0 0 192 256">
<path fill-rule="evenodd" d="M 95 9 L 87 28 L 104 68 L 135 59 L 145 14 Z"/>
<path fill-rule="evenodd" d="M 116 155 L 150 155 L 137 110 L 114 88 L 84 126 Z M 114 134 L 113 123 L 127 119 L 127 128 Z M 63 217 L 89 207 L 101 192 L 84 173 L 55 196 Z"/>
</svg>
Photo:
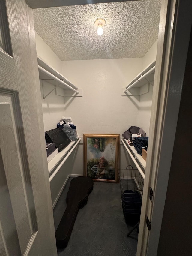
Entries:
<svg viewBox="0 0 192 256">
<path fill-rule="evenodd" d="M 68 146 L 66 146 L 61 152 L 58 152 L 58 154 L 51 159 L 51 161 L 48 163 L 49 173 L 51 173 L 52 170 L 54 170 L 54 168 L 64 159 L 64 157 L 69 154 L 70 149 L 75 148 L 78 145 L 78 141 L 79 136 L 76 141 L 71 141 Z"/>
</svg>

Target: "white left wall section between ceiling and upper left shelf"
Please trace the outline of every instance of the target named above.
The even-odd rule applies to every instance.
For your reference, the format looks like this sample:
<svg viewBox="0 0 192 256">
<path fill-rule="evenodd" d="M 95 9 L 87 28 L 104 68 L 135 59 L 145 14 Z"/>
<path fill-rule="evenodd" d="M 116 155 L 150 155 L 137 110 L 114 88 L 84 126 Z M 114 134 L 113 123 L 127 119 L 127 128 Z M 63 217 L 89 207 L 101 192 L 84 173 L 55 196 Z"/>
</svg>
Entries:
<svg viewBox="0 0 192 256">
<path fill-rule="evenodd" d="M 35 42 L 37 55 L 40 56 L 47 64 L 49 64 L 61 73 L 61 60 L 45 43 L 45 41 L 38 35 L 37 32 L 35 32 Z"/>
</svg>

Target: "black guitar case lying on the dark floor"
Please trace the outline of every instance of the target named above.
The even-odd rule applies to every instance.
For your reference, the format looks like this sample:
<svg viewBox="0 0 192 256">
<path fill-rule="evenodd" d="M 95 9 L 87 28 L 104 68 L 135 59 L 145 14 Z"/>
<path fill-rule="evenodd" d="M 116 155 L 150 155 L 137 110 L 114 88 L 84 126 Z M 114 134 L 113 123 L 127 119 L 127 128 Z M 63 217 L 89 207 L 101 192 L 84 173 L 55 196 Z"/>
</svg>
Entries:
<svg viewBox="0 0 192 256">
<path fill-rule="evenodd" d="M 76 177 L 71 180 L 66 198 L 67 208 L 55 232 L 57 247 L 67 246 L 77 213 L 87 204 L 88 195 L 92 190 L 93 180 L 90 177 Z"/>
</svg>

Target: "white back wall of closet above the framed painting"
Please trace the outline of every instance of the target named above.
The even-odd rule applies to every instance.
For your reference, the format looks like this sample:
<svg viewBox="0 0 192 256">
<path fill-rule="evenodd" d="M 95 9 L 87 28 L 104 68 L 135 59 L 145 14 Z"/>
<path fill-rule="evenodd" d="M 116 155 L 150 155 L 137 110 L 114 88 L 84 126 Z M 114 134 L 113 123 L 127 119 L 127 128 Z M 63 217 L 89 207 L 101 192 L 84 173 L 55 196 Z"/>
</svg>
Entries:
<svg viewBox="0 0 192 256">
<path fill-rule="evenodd" d="M 83 97 L 65 102 L 65 114 L 72 117 L 79 136 L 121 135 L 138 124 L 139 96 L 122 97 L 121 88 L 142 70 L 141 58 L 63 61 L 62 68 L 83 89 Z"/>
</svg>

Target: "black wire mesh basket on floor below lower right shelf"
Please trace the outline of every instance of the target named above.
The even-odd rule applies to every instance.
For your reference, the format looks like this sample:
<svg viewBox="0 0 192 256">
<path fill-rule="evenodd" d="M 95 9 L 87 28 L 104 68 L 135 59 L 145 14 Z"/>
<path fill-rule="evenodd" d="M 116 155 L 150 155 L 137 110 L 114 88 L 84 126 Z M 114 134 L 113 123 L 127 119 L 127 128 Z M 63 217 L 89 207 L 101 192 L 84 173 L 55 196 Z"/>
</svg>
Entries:
<svg viewBox="0 0 192 256">
<path fill-rule="evenodd" d="M 140 220 L 144 179 L 138 169 L 128 165 L 119 169 L 119 181 L 125 220 L 135 225 Z"/>
</svg>

